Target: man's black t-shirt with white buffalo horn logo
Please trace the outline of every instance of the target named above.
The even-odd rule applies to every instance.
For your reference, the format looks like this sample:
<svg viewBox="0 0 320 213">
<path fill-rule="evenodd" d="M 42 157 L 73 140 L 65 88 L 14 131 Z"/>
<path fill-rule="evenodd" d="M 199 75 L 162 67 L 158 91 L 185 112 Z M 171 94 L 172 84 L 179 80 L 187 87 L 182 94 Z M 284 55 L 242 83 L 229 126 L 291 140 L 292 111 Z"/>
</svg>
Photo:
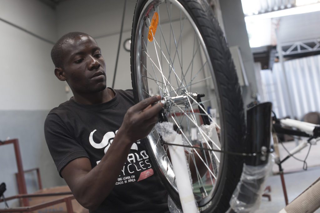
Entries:
<svg viewBox="0 0 320 213">
<path fill-rule="evenodd" d="M 124 114 L 134 105 L 131 90 L 113 91 L 115 97 L 106 103 L 84 105 L 70 99 L 49 112 L 44 133 L 59 174 L 79 157 L 89 158 L 93 168 L 107 152 Z M 167 192 L 152 165 L 146 140 L 133 143 L 114 189 L 91 212 L 169 212 Z"/>
</svg>

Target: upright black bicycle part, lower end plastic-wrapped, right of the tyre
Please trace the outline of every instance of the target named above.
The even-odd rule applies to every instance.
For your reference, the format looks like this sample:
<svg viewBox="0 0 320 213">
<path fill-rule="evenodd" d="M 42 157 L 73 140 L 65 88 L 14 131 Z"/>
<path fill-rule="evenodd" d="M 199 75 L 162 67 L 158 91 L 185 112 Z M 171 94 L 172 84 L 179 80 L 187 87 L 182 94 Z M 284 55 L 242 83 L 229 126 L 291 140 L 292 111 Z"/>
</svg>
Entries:
<svg viewBox="0 0 320 213">
<path fill-rule="evenodd" d="M 247 111 L 247 134 L 244 153 L 256 155 L 244 157 L 240 181 L 230 200 L 230 212 L 254 212 L 259 208 L 264 181 L 270 170 L 268 155 L 271 152 L 271 107 L 270 102 L 258 104 Z M 258 203 L 258 204 L 257 204 Z"/>
</svg>

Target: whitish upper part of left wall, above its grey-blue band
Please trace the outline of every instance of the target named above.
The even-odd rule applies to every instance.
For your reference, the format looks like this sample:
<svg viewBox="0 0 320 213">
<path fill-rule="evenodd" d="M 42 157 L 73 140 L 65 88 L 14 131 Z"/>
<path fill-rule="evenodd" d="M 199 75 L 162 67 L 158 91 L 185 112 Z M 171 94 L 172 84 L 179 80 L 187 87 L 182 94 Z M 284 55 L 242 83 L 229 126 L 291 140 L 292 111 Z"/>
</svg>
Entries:
<svg viewBox="0 0 320 213">
<path fill-rule="evenodd" d="M 37 0 L 2 0 L 0 18 L 55 41 L 55 11 Z M 52 43 L 0 20 L 0 110 L 49 110 L 65 100 L 50 58 Z M 5 91 L 5 92 L 4 92 Z"/>
</svg>

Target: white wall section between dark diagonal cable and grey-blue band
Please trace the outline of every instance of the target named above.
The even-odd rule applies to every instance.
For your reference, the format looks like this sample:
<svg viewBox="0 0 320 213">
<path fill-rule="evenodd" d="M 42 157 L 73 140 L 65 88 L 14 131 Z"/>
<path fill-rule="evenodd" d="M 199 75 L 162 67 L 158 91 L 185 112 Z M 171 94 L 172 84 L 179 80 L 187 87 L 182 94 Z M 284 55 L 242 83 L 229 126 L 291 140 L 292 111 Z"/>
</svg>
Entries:
<svg viewBox="0 0 320 213">
<path fill-rule="evenodd" d="M 49 110 L 65 100 L 54 76 L 52 44 L 0 21 L 1 110 Z"/>
</svg>

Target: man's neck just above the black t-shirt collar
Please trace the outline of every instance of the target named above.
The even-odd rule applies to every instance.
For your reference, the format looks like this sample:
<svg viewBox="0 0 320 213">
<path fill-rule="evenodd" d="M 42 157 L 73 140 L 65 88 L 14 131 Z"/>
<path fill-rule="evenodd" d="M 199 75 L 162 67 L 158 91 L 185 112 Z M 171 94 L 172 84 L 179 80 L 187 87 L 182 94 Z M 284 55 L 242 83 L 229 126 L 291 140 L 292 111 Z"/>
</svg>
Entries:
<svg viewBox="0 0 320 213">
<path fill-rule="evenodd" d="M 102 91 L 90 94 L 74 94 L 73 99 L 80 104 L 101 104 L 115 97 L 114 92 L 106 88 Z"/>
</svg>

